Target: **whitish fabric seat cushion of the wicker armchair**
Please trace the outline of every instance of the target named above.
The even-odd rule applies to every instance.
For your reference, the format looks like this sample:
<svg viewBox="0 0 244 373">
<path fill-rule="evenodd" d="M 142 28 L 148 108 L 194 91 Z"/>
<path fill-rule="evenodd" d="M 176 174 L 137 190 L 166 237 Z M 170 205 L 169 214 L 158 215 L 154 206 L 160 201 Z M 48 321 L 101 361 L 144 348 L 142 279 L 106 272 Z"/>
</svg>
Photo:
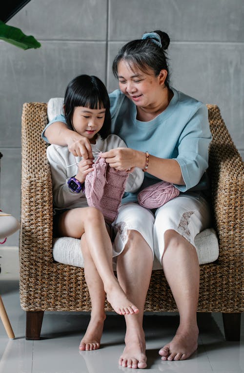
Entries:
<svg viewBox="0 0 244 373">
<path fill-rule="evenodd" d="M 195 237 L 195 244 L 199 264 L 211 263 L 219 256 L 218 237 L 214 229 L 205 229 Z M 84 259 L 81 253 L 80 240 L 72 237 L 60 237 L 54 239 L 53 245 L 54 260 L 84 268 Z M 114 264 L 114 270 L 116 265 Z M 162 269 L 160 262 L 154 258 L 153 270 Z"/>
</svg>

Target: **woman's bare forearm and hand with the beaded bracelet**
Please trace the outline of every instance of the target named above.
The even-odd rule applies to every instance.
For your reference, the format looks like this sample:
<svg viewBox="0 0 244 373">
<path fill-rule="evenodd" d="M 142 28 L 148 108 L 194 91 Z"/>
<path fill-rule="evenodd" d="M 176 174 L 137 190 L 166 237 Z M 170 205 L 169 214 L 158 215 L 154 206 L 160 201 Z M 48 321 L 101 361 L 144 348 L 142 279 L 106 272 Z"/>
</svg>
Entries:
<svg viewBox="0 0 244 373">
<path fill-rule="evenodd" d="M 103 153 L 101 157 L 118 170 L 132 167 L 143 170 L 146 165 L 146 154 L 130 148 L 112 149 Z M 175 159 L 162 159 L 149 155 L 147 172 L 168 183 L 184 185 L 180 164 Z"/>
</svg>

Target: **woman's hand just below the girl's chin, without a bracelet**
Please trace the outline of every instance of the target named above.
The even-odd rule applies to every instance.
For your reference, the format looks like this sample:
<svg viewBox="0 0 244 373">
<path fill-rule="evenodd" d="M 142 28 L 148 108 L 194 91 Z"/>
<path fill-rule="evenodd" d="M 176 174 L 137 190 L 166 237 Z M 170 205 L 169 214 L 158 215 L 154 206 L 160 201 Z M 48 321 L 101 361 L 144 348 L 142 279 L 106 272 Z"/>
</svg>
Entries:
<svg viewBox="0 0 244 373">
<path fill-rule="evenodd" d="M 69 151 L 75 157 L 82 157 L 83 159 L 93 159 L 92 148 L 90 141 L 73 131 L 71 136 L 67 139 Z"/>
</svg>

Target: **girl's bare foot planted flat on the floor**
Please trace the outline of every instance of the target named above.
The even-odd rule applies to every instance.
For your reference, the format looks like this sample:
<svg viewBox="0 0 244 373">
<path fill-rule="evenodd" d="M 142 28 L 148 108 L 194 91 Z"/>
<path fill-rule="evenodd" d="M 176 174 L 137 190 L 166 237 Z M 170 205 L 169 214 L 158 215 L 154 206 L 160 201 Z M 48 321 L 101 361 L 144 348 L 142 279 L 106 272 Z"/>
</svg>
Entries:
<svg viewBox="0 0 244 373">
<path fill-rule="evenodd" d="M 100 348 L 100 341 L 102 338 L 102 330 L 105 318 L 105 314 L 104 317 L 100 319 L 91 317 L 85 335 L 81 339 L 79 350 L 91 351 L 98 350 Z"/>
</svg>

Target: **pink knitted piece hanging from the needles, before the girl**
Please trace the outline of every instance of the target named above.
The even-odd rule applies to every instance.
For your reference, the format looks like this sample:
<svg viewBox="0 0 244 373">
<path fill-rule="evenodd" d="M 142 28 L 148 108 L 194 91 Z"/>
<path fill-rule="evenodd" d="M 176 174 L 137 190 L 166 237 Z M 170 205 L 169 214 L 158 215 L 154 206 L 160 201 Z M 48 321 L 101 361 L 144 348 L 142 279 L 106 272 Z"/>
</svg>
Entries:
<svg viewBox="0 0 244 373">
<path fill-rule="evenodd" d="M 101 157 L 98 157 L 93 168 L 94 171 L 85 179 L 87 203 L 102 211 L 105 221 L 112 223 L 118 216 L 118 208 L 129 174 L 110 167 Z"/>
</svg>

